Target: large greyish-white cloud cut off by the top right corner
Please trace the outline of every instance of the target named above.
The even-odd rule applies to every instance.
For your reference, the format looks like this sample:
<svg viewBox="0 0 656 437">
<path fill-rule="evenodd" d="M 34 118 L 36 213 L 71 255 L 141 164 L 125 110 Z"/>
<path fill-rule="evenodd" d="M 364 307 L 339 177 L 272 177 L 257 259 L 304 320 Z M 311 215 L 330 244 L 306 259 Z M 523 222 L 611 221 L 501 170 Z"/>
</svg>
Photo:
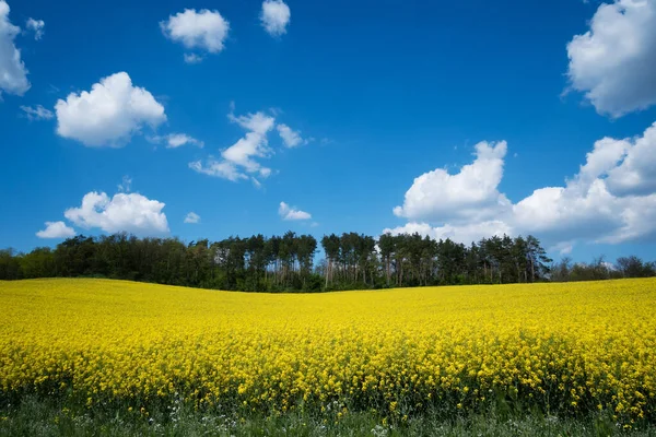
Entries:
<svg viewBox="0 0 656 437">
<path fill-rule="evenodd" d="M 656 103 L 656 0 L 602 3 L 567 44 L 572 88 L 599 114 L 620 117 Z"/>
</svg>

